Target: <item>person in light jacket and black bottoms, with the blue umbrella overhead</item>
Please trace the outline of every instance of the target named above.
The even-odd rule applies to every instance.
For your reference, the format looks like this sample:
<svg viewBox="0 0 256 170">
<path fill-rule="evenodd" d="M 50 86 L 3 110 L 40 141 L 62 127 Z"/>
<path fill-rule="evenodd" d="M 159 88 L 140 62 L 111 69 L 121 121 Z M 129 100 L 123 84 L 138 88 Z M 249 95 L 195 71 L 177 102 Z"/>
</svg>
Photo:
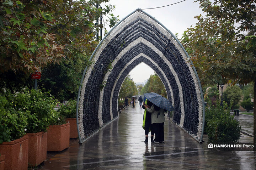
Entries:
<svg viewBox="0 0 256 170">
<path fill-rule="evenodd" d="M 146 93 L 144 94 L 148 101 L 152 102 L 153 105 L 148 107 L 146 105 L 146 111 L 151 113 L 151 124 L 155 132 L 155 143 L 164 143 L 164 112 L 166 110 L 173 111 L 174 107 L 167 100 L 167 98 L 156 94 L 156 93 Z"/>
</svg>

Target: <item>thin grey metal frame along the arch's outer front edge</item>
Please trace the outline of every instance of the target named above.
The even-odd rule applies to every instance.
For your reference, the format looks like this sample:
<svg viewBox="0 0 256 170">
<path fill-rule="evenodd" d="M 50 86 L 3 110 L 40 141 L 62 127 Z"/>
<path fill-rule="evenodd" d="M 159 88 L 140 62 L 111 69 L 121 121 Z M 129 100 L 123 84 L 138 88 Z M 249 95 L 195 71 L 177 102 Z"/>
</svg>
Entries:
<svg viewBox="0 0 256 170">
<path fill-rule="evenodd" d="M 96 49 L 94 50 L 94 52 L 92 53 L 89 61 L 92 60 L 92 57 L 95 55 L 96 51 L 98 50 L 98 48 L 100 47 L 100 45 L 102 44 L 102 42 L 107 38 L 107 36 L 112 32 L 113 29 L 115 29 L 120 23 L 122 23 L 126 18 L 128 18 L 129 16 L 133 15 L 133 13 L 140 11 L 143 12 L 145 15 L 147 15 L 148 17 L 150 17 L 151 19 L 153 19 L 155 22 L 157 22 L 160 26 L 162 26 L 169 34 L 171 34 L 171 36 L 176 40 L 176 42 L 178 42 L 178 45 L 180 45 L 180 47 L 182 48 L 182 50 L 185 52 L 187 58 L 190 59 L 190 56 L 188 55 L 187 51 L 185 50 L 185 48 L 183 47 L 183 45 L 180 43 L 180 41 L 175 37 L 175 35 L 169 30 L 167 29 L 162 23 L 160 23 L 157 19 L 155 19 L 153 16 L 149 15 L 147 12 L 143 11 L 142 9 L 138 8 L 136 10 L 134 10 L 133 12 L 131 12 L 130 14 L 128 14 L 126 17 L 124 17 L 121 21 L 119 21 L 105 36 L 104 38 L 102 38 L 102 40 L 99 42 L 99 44 L 97 45 Z M 202 134 L 201 134 L 201 139 L 199 142 L 203 141 L 203 131 L 204 131 L 204 121 L 205 121 L 205 109 L 204 109 L 204 96 L 203 96 L 203 90 L 202 90 L 202 86 L 201 86 L 201 82 L 199 80 L 196 68 L 194 67 L 194 64 L 192 63 L 192 61 L 190 60 L 190 64 L 194 70 L 194 73 L 196 74 L 196 78 L 198 81 L 198 85 L 199 85 L 199 89 L 200 89 L 200 93 L 201 93 L 201 99 L 202 99 L 202 108 L 203 108 L 203 122 L 202 122 Z M 79 86 L 79 90 L 78 90 L 78 97 L 76 100 L 76 126 L 78 129 L 78 138 L 79 138 L 79 142 L 83 143 L 85 140 L 81 139 L 80 136 L 80 130 L 79 130 L 79 122 L 78 122 L 78 112 L 79 112 L 79 98 L 80 98 L 80 92 L 81 92 L 81 87 L 82 87 L 82 83 L 84 81 L 84 77 L 86 74 L 88 66 L 85 67 L 84 72 L 82 74 L 82 78 L 80 81 L 80 86 Z"/>
</svg>

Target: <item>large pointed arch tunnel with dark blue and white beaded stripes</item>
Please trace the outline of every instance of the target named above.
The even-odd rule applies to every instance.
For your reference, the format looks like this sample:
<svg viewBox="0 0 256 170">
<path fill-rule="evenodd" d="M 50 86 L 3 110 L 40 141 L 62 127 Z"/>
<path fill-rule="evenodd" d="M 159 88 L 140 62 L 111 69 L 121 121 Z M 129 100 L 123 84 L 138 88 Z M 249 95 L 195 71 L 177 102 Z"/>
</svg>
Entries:
<svg viewBox="0 0 256 170">
<path fill-rule="evenodd" d="M 175 36 L 148 13 L 137 9 L 122 19 L 102 39 L 90 60 L 77 102 L 80 142 L 118 117 L 119 90 L 141 62 L 155 70 L 163 82 L 175 109 L 172 121 L 202 142 L 204 99 L 196 70 Z M 112 69 L 108 69 L 110 65 Z"/>
</svg>

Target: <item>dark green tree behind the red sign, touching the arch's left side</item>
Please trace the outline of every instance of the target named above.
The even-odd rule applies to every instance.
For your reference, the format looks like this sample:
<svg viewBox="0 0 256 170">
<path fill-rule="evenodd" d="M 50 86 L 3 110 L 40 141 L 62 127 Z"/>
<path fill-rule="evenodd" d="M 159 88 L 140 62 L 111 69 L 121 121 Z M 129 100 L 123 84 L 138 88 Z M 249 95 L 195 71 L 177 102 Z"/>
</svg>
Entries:
<svg viewBox="0 0 256 170">
<path fill-rule="evenodd" d="M 63 58 L 60 64 L 48 64 L 42 69 L 38 86 L 50 90 L 59 101 L 74 99 L 88 60 L 89 56 L 76 53 L 72 58 Z"/>
</svg>

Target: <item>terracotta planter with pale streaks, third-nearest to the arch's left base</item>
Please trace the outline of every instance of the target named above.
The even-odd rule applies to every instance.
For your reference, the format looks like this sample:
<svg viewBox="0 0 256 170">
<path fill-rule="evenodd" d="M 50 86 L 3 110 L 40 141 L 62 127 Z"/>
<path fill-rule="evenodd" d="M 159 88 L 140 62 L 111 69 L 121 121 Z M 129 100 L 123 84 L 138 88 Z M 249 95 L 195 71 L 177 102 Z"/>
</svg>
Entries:
<svg viewBox="0 0 256 170">
<path fill-rule="evenodd" d="M 47 132 L 28 135 L 28 166 L 37 166 L 46 160 Z"/>
</svg>

